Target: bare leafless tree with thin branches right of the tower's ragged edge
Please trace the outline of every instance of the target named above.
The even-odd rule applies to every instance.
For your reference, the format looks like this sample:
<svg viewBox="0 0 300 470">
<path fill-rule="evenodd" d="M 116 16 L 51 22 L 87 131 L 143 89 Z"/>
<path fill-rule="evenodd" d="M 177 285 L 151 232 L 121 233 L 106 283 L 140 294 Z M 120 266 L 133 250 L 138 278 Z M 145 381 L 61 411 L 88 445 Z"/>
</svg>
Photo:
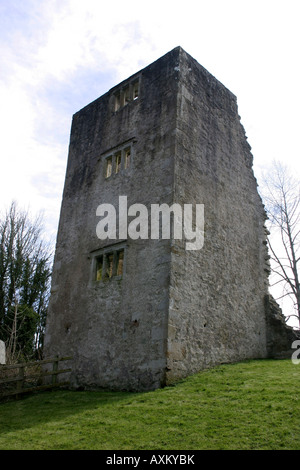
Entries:
<svg viewBox="0 0 300 470">
<path fill-rule="evenodd" d="M 263 178 L 262 198 L 269 219 L 268 245 L 274 282 L 282 286 L 276 300 L 289 297 L 300 326 L 300 185 L 287 167 L 273 163 L 272 171 Z"/>
</svg>

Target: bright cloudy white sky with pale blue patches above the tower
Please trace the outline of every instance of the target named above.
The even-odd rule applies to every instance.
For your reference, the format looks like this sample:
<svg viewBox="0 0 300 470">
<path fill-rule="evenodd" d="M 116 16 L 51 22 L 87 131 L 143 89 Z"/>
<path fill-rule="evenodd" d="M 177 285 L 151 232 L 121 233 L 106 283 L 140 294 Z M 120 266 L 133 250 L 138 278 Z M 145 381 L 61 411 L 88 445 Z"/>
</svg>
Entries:
<svg viewBox="0 0 300 470">
<path fill-rule="evenodd" d="M 0 0 L 0 210 L 56 236 L 72 115 L 176 46 L 231 90 L 259 179 L 299 175 L 299 0 Z"/>
</svg>

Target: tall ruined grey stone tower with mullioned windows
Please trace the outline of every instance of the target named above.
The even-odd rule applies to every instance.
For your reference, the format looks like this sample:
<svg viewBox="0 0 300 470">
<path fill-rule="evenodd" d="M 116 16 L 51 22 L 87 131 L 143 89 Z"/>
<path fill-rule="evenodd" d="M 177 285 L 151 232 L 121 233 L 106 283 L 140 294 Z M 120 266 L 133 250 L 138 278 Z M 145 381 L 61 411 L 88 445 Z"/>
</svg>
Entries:
<svg viewBox="0 0 300 470">
<path fill-rule="evenodd" d="M 203 204 L 203 246 L 119 233 L 120 196 Z M 74 387 L 146 390 L 274 354 L 264 222 L 236 97 L 175 48 L 73 117 L 45 356 L 73 356 Z"/>
</svg>

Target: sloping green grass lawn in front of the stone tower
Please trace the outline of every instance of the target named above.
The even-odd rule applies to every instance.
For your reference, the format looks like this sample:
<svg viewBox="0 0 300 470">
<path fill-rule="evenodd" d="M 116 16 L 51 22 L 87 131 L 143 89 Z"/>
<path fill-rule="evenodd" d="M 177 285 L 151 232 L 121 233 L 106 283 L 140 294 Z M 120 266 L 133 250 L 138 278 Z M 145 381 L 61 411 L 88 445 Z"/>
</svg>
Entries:
<svg viewBox="0 0 300 470">
<path fill-rule="evenodd" d="M 147 393 L 52 391 L 0 404 L 0 449 L 300 449 L 300 365 L 257 360 Z"/>
</svg>

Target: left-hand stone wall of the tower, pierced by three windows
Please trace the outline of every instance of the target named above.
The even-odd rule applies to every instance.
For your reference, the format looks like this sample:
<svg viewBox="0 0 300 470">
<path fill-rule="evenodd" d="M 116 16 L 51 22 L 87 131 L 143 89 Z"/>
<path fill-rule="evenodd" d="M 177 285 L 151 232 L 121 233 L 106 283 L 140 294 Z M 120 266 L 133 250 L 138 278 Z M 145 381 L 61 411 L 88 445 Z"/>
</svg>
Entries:
<svg viewBox="0 0 300 470">
<path fill-rule="evenodd" d="M 165 381 L 169 240 L 126 242 L 122 280 L 90 282 L 97 206 L 172 202 L 177 83 L 170 57 L 137 77 L 140 95 L 117 112 L 120 84 L 73 118 L 57 239 L 46 354 L 73 354 L 74 385 L 143 389 Z M 129 82 L 131 79 L 129 79 Z M 125 82 L 126 85 L 127 82 Z M 110 149 L 132 142 L 129 171 L 105 178 Z"/>
</svg>

